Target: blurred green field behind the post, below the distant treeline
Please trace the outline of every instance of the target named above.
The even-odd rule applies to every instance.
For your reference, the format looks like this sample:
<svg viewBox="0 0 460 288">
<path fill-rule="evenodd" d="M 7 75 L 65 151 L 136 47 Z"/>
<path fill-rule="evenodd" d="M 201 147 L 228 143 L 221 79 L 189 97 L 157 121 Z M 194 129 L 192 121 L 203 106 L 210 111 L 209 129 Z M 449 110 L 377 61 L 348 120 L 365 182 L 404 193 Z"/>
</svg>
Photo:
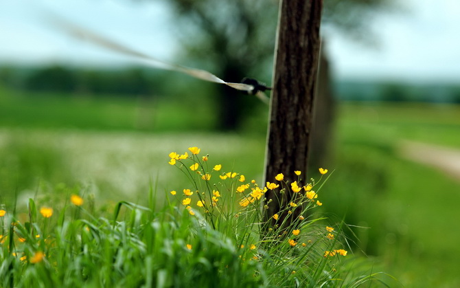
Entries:
<svg viewBox="0 0 460 288">
<path fill-rule="evenodd" d="M 0 202 L 76 187 L 108 201 L 144 201 L 150 186 L 159 195 L 187 186 L 167 162 L 170 151 L 189 146 L 262 181 L 266 111 L 242 133 L 224 134 L 210 131 L 210 105 L 148 103 L 0 89 Z M 324 212 L 369 227 L 354 228 L 359 247 L 406 287 L 459 287 L 452 223 L 460 181 L 405 159 L 398 147 L 414 140 L 460 149 L 460 107 L 341 103 L 337 112 Z"/>
</svg>

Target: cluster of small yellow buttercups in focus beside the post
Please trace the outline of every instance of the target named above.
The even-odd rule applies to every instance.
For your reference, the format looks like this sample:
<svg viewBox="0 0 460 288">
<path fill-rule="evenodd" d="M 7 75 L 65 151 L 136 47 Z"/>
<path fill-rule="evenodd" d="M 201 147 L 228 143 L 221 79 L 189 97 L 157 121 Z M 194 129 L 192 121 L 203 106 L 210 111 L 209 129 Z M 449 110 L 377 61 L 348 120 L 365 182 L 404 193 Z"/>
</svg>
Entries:
<svg viewBox="0 0 460 288">
<path fill-rule="evenodd" d="M 191 153 L 189 155 L 189 153 Z M 318 194 L 315 191 L 314 187 L 317 185 L 314 179 L 310 179 L 310 182 L 304 183 L 301 179 L 302 172 L 300 170 L 293 171 L 295 175 L 295 181 L 289 181 L 288 177 L 285 177 L 283 173 L 279 173 L 273 179 L 273 182 L 266 181 L 264 186 L 259 186 L 256 184 L 255 180 L 246 181 L 246 177 L 234 171 L 225 171 L 222 164 L 209 165 L 209 155 L 198 157 L 200 153 L 200 148 L 190 147 L 188 151 L 179 154 L 172 152 L 169 154 L 170 161 L 168 162 L 171 165 L 174 165 L 182 170 L 189 179 L 192 180 L 193 188 L 183 189 L 182 195 L 179 195 L 176 190 L 170 191 L 170 194 L 176 197 L 176 199 L 188 210 L 189 214 L 195 215 L 197 211 L 204 212 L 205 217 L 214 227 L 213 217 L 215 210 L 222 212 L 225 207 L 220 206 L 220 197 L 221 192 L 225 192 L 225 195 L 229 198 L 234 199 L 235 203 L 238 203 L 240 206 L 240 211 L 234 212 L 230 215 L 231 218 L 238 218 L 242 214 L 248 214 L 249 212 L 254 212 L 255 214 L 260 212 L 260 201 L 264 201 L 263 207 L 265 210 L 271 205 L 273 199 L 265 199 L 267 191 L 271 191 L 272 198 L 275 195 L 275 199 L 282 199 L 282 194 L 288 193 L 288 203 L 281 205 L 281 210 L 273 214 L 273 222 L 270 224 L 271 228 L 268 229 L 269 233 L 266 237 L 281 237 L 286 235 L 286 241 L 288 247 L 306 247 L 306 243 L 299 243 L 299 239 L 305 237 L 302 235 L 302 224 L 301 221 L 305 219 L 303 217 L 303 212 L 310 208 L 317 206 L 322 206 L 318 200 Z M 212 168 L 211 168 L 212 167 Z M 325 175 L 327 169 L 319 168 L 319 173 Z M 214 181 L 218 182 L 217 184 L 210 184 L 210 180 L 215 179 Z M 219 187 L 219 188 L 218 188 Z M 228 194 L 227 194 L 228 193 Z M 233 203 L 227 203 L 228 206 L 232 206 Z M 289 217 L 293 215 L 294 210 L 299 209 L 298 212 L 294 215 L 297 219 L 289 220 Z M 260 222 L 263 217 L 262 214 L 259 214 L 259 218 L 255 219 L 257 222 Z M 290 221 L 292 228 L 286 231 L 284 224 Z M 219 222 L 219 221 L 215 221 Z M 306 223 L 305 227 L 308 226 Z M 325 239 L 334 239 L 334 228 L 326 227 L 327 234 Z M 281 239 L 281 238 L 280 238 Z M 264 241 L 260 239 L 260 241 Z M 310 243 L 311 241 L 306 241 Z M 244 247 L 244 245 L 241 245 Z M 255 245 L 251 244 L 250 250 L 255 249 Z M 332 252 L 327 252 L 329 255 L 332 254 L 341 254 L 346 255 L 345 250 L 334 250 Z M 257 258 L 257 255 L 254 257 Z"/>
</svg>

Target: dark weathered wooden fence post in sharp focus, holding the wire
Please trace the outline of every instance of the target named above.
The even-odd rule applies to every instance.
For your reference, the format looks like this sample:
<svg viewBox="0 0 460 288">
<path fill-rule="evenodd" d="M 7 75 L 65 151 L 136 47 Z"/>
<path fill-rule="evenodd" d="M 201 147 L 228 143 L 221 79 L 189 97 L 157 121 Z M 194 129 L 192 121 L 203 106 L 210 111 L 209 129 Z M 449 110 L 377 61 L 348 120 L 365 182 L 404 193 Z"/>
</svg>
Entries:
<svg viewBox="0 0 460 288">
<path fill-rule="evenodd" d="M 295 170 L 301 170 L 303 177 L 307 172 L 322 6 L 322 0 L 282 0 L 280 3 L 265 181 L 273 182 L 278 173 L 283 173 L 292 183 L 297 179 Z M 288 205 L 292 196 L 286 191 L 279 199 L 275 192 L 268 190 L 265 197 L 272 202 L 264 214 L 265 220 L 275 223 L 272 216 L 279 214 L 278 223 L 281 223 L 287 213 L 280 214 L 280 207 Z M 291 219 L 296 216 L 292 214 Z"/>
</svg>

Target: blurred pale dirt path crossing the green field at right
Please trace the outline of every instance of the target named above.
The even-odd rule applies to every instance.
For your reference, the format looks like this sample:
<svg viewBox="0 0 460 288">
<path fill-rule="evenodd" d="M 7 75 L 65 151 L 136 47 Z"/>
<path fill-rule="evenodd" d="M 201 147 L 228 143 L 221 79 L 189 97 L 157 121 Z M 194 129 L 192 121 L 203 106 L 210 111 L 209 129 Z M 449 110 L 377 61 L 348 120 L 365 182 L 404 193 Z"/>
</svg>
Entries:
<svg viewBox="0 0 460 288">
<path fill-rule="evenodd" d="M 404 141 L 400 145 L 403 157 L 444 171 L 460 181 L 460 150 L 433 144 Z"/>
</svg>

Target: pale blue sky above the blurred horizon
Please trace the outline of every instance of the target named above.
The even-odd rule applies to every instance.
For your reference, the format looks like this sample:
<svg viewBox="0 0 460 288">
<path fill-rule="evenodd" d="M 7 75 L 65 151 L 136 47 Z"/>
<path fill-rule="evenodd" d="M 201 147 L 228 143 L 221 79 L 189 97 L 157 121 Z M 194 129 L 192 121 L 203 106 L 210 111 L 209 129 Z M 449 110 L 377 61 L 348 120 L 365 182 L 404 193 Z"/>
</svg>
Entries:
<svg viewBox="0 0 460 288">
<path fill-rule="evenodd" d="M 334 30 L 325 31 L 334 76 L 460 83 L 460 1 L 400 1 L 404 12 L 378 14 L 369 23 L 380 43 L 377 48 L 354 43 Z M 47 10 L 141 52 L 175 62 L 179 48 L 168 7 L 161 1 L 139 2 L 0 0 L 0 63 L 132 62 L 55 30 L 44 20 Z"/>
</svg>

